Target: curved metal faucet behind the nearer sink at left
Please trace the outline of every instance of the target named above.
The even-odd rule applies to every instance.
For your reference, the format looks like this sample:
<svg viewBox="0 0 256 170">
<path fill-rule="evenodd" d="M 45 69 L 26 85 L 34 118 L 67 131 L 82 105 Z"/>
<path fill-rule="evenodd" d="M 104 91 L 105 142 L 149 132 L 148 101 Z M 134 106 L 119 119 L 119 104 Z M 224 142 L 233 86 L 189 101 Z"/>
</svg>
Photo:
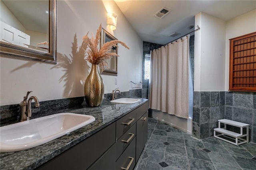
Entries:
<svg viewBox="0 0 256 170">
<path fill-rule="evenodd" d="M 39 101 L 36 96 L 30 96 L 28 99 L 28 94 L 30 94 L 32 91 L 27 92 L 27 95 L 23 97 L 23 101 L 20 102 L 20 121 L 26 121 L 29 120 L 32 116 L 31 112 L 31 102 L 32 100 L 35 101 L 35 106 L 39 107 Z M 28 99 L 28 100 L 27 100 Z"/>
</svg>

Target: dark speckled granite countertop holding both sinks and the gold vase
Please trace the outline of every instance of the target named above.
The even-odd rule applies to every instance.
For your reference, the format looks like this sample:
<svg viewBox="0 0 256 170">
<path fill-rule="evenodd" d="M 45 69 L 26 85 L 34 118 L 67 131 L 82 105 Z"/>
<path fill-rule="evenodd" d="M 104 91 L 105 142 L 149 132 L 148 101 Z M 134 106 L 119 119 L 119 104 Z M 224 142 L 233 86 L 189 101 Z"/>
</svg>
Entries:
<svg viewBox="0 0 256 170">
<path fill-rule="evenodd" d="M 112 104 L 108 101 L 103 101 L 100 107 L 87 107 L 85 105 L 55 112 L 92 115 L 96 120 L 68 135 L 38 147 L 18 152 L 0 153 L 1 170 L 33 170 L 39 167 L 148 101 L 147 99 L 140 99 L 141 102 L 136 104 Z M 48 113 L 48 115 L 51 114 Z"/>
</svg>

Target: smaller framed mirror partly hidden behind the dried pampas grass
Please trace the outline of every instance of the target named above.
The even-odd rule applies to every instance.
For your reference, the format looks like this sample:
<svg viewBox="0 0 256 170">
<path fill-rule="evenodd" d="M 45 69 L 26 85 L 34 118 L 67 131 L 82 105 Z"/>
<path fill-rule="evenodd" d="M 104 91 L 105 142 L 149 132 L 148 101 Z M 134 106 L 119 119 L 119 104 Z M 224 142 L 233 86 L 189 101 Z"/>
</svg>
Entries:
<svg viewBox="0 0 256 170">
<path fill-rule="evenodd" d="M 113 35 L 108 33 L 108 31 L 102 28 L 101 36 L 100 36 L 100 48 L 104 43 L 112 40 L 117 40 L 117 39 Z M 113 46 L 109 52 L 118 54 L 118 47 Z M 100 68 L 100 74 L 117 76 L 117 58 L 118 57 L 112 57 L 108 59 L 107 60 L 108 67 L 104 66 L 103 68 Z"/>
</svg>

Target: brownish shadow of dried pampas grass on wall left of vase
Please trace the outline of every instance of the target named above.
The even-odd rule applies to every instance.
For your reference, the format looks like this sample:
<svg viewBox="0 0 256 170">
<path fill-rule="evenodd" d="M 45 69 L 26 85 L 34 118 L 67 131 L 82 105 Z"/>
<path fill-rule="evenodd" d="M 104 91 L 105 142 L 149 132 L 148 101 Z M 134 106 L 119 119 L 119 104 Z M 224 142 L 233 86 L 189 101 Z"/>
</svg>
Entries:
<svg viewBox="0 0 256 170">
<path fill-rule="evenodd" d="M 82 45 L 78 49 L 76 34 L 74 35 L 74 42 L 72 43 L 72 55 L 57 54 L 57 64 L 53 68 L 62 68 L 65 73 L 59 79 L 59 82 L 64 81 L 65 98 L 74 96 L 84 96 L 84 82 L 89 75 L 90 66 L 84 59 L 86 45 Z"/>
</svg>

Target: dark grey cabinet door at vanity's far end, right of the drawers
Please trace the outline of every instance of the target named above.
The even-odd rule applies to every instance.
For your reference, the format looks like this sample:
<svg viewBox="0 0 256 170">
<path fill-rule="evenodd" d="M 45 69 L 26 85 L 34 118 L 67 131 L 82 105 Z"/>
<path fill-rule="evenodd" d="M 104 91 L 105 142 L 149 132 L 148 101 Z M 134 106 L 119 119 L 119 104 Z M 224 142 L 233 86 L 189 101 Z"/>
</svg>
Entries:
<svg viewBox="0 0 256 170">
<path fill-rule="evenodd" d="M 136 162 L 148 140 L 148 111 L 136 123 Z"/>
</svg>

